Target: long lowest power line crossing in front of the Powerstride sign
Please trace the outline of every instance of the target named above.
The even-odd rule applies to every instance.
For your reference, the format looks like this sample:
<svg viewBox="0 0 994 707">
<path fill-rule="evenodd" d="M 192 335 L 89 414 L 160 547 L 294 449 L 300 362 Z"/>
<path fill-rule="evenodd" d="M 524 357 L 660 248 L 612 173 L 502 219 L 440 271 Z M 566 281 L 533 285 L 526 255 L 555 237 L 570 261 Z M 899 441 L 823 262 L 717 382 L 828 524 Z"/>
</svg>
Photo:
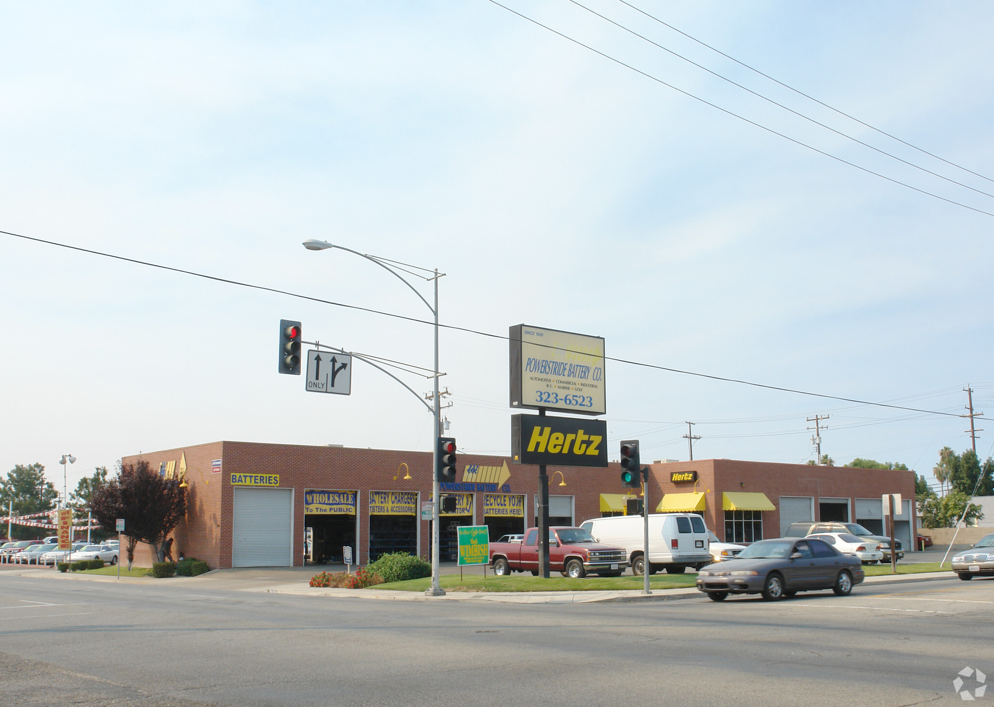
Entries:
<svg viewBox="0 0 994 707">
<path fill-rule="evenodd" d="M 23 236 L 21 234 L 12 233 L 10 231 L 0 231 L 0 234 L 4 234 L 6 236 L 12 236 L 14 238 L 23 239 L 25 241 L 34 241 L 35 243 L 44 243 L 44 244 L 46 244 L 48 246 L 56 246 L 58 248 L 65 248 L 65 249 L 68 249 L 70 251 L 78 251 L 80 253 L 88 253 L 88 254 L 93 255 L 93 256 L 100 256 L 101 258 L 110 258 L 110 259 L 113 259 L 115 261 L 123 261 L 125 263 L 133 263 L 135 265 L 145 265 L 147 267 L 156 267 L 156 268 L 163 269 L 163 270 L 169 270 L 171 272 L 180 272 L 182 274 L 192 275 L 194 277 L 203 277 L 204 279 L 210 279 L 210 280 L 214 280 L 216 282 L 224 282 L 226 284 L 234 284 L 234 285 L 238 285 L 240 287 L 248 287 L 250 289 L 258 289 L 258 290 L 262 290 L 264 292 L 273 292 L 273 293 L 276 293 L 276 294 L 285 294 L 286 296 L 296 297 L 297 299 L 306 299 L 306 300 L 311 301 L 311 302 L 319 302 L 321 304 L 331 304 L 331 305 L 337 306 L 337 307 L 346 307 L 348 309 L 356 309 L 358 311 L 370 312 L 371 314 L 380 314 L 381 316 L 389 316 L 389 317 L 393 317 L 395 319 L 403 319 L 405 321 L 412 321 L 412 322 L 415 322 L 417 324 L 426 324 L 426 325 L 429 325 L 429 326 L 434 326 L 434 322 L 433 321 L 428 321 L 427 319 L 418 319 L 417 317 L 413 317 L 413 316 L 406 316 L 404 314 L 396 314 L 394 312 L 386 312 L 386 311 L 382 311 L 382 310 L 379 310 L 379 309 L 372 309 L 370 307 L 362 307 L 362 306 L 359 306 L 357 304 L 347 304 L 345 302 L 336 302 L 336 301 L 334 301 L 332 299 L 322 299 L 321 297 L 312 297 L 312 296 L 307 295 L 307 294 L 300 294 L 298 292 L 291 292 L 291 291 L 286 290 L 286 289 L 278 289 L 276 287 L 266 287 L 265 285 L 261 285 L 261 284 L 252 284 L 251 282 L 243 282 L 242 280 L 231 279 L 230 277 L 219 277 L 218 275 L 210 275 L 210 274 L 206 274 L 206 273 L 203 273 L 203 272 L 196 272 L 194 270 L 187 270 L 187 269 L 183 269 L 181 267 L 172 267 L 171 265 L 159 265 L 157 263 L 149 263 L 148 261 L 139 261 L 139 260 L 134 259 L 134 258 L 126 258 L 124 256 L 116 256 L 116 255 L 113 255 L 113 254 L 110 254 L 110 253 L 103 253 L 101 251 L 94 251 L 94 250 L 88 249 L 88 248 L 81 248 L 79 246 L 70 246 L 69 244 L 59 243 L 58 241 L 47 241 L 45 239 L 34 238 L 32 236 Z M 508 336 L 506 336 L 504 334 L 494 334 L 494 333 L 491 333 L 489 331 L 480 331 L 479 329 L 470 329 L 469 327 L 466 327 L 466 326 L 456 326 L 454 324 L 441 324 L 441 323 L 439 323 L 438 326 L 440 328 L 443 328 L 443 329 L 450 329 L 452 331 L 464 331 L 464 332 L 466 332 L 468 334 L 476 334 L 477 336 L 486 336 L 486 337 L 491 338 L 491 339 L 501 339 L 503 341 L 507 341 L 510 338 L 510 337 L 508 337 Z M 533 344 L 533 345 L 534 346 L 543 346 L 545 348 L 551 348 L 551 349 L 557 349 L 557 350 L 559 350 L 559 347 L 557 347 L 557 346 L 548 346 L 546 344 Z M 641 368 L 649 368 L 649 369 L 653 369 L 653 370 L 656 370 L 656 371 L 667 371 L 668 373 L 679 373 L 679 374 L 684 375 L 684 376 L 695 376 L 697 378 L 707 378 L 707 379 L 712 380 L 712 381 L 722 381 L 724 383 L 738 383 L 738 384 L 744 385 L 744 386 L 751 386 L 752 388 L 762 388 L 764 390 L 779 391 L 781 393 L 792 393 L 792 394 L 795 394 L 795 395 L 809 396 L 809 397 L 812 397 L 812 398 L 822 398 L 822 399 L 825 399 L 825 400 L 839 400 L 839 401 L 842 401 L 842 402 L 845 402 L 845 403 L 855 403 L 857 405 L 869 405 L 869 406 L 873 406 L 873 407 L 876 407 L 876 408 L 890 408 L 892 410 L 907 410 L 907 411 L 910 411 L 912 413 L 924 413 L 926 415 L 938 415 L 938 416 L 941 416 L 941 417 L 950 417 L 950 418 L 959 418 L 960 417 L 960 415 L 958 413 L 946 413 L 946 412 L 942 412 L 942 411 L 938 411 L 938 410 L 924 410 L 924 409 L 921 409 L 921 408 L 910 408 L 910 407 L 903 406 L 903 405 L 893 405 L 893 404 L 889 404 L 889 403 L 875 403 L 873 401 L 860 400 L 858 398 L 845 398 L 843 396 L 828 395 L 826 393 L 814 393 L 812 391 L 802 391 L 802 390 L 798 390 L 796 388 L 786 388 L 784 386 L 773 386 L 773 385 L 769 385 L 769 384 L 766 384 L 766 383 L 755 383 L 753 381 L 745 381 L 745 380 L 742 380 L 742 379 L 739 379 L 739 378 L 728 378 L 726 376 L 715 376 L 715 375 L 708 374 L 708 373 L 698 373 L 696 371 L 686 371 L 686 370 L 679 369 L 679 368 L 671 368 L 669 366 L 660 366 L 658 364 L 653 364 L 653 363 L 644 363 L 642 361 L 633 361 L 631 359 L 617 358 L 615 356 L 604 356 L 604 359 L 607 360 L 607 361 L 614 361 L 615 363 L 627 364 L 629 366 L 639 366 Z M 977 417 L 980 418 L 980 416 L 977 416 Z M 986 418 L 980 418 L 980 419 L 986 420 Z"/>
</svg>

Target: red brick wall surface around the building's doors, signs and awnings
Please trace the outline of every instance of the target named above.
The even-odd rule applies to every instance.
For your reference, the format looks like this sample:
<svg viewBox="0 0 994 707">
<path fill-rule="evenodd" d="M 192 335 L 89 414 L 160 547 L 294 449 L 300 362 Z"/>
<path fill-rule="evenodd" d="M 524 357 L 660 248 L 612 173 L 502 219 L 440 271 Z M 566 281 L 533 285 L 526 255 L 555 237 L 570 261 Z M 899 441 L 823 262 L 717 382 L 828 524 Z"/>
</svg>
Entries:
<svg viewBox="0 0 994 707">
<path fill-rule="evenodd" d="M 232 513 L 234 491 L 229 483 L 231 473 L 279 474 L 281 487 L 295 489 L 293 496 L 293 562 L 299 565 L 303 558 L 304 493 L 305 488 L 358 490 L 359 514 L 358 561 L 366 564 L 369 555 L 369 491 L 398 490 L 418 491 L 420 501 L 427 501 L 431 492 L 431 452 L 400 451 L 392 449 L 360 449 L 333 446 L 305 446 L 297 444 L 263 444 L 256 442 L 213 442 L 178 449 L 168 449 L 126 456 L 122 462 L 134 463 L 139 458 L 148 460 L 153 468 L 159 462 L 180 459 L 186 453 L 188 488 L 187 518 L 173 533 L 174 557 L 183 552 L 187 557 L 206 560 L 214 568 L 228 568 L 232 564 Z M 222 473 L 211 473 L 212 459 L 222 458 Z M 508 463 L 511 477 L 506 481 L 511 493 L 525 494 L 526 527 L 534 523 L 535 496 L 538 491 L 538 467 L 516 464 L 510 458 L 458 455 L 457 481 L 462 480 L 466 465 L 482 464 L 499 466 Z M 402 462 L 411 469 L 412 478 L 405 480 L 404 470 L 398 472 Z M 196 469 L 203 472 L 201 473 Z M 723 491 L 760 491 L 774 504 L 781 495 L 841 496 L 848 498 L 879 497 L 883 493 L 901 493 L 914 497 L 911 471 L 882 469 L 850 469 L 845 467 L 812 466 L 807 464 L 778 464 L 729 459 L 704 459 L 650 465 L 649 505 L 655 510 L 663 493 L 686 493 L 694 490 L 694 483 L 670 482 L 671 471 L 696 470 L 698 491 L 707 491 L 705 519 L 708 527 L 719 537 L 724 537 Z M 560 486 L 560 475 L 566 486 Z M 575 497 L 575 521 L 580 524 L 587 518 L 600 517 L 601 493 L 625 493 L 621 483 L 621 469 L 617 463 L 607 468 L 550 467 L 550 495 Z M 395 480 L 395 476 L 398 478 Z M 208 482 L 209 481 L 209 482 Z M 817 500 L 815 509 L 817 513 Z M 852 518 L 853 509 L 850 508 Z M 816 517 L 817 519 L 817 517 Z M 475 518 L 477 525 L 484 524 L 482 492 L 476 494 Z M 419 554 L 429 552 L 429 524 L 420 521 Z M 763 513 L 764 537 L 779 535 L 778 511 Z M 139 545 L 135 551 L 139 566 L 151 564 L 148 546 Z"/>
</svg>

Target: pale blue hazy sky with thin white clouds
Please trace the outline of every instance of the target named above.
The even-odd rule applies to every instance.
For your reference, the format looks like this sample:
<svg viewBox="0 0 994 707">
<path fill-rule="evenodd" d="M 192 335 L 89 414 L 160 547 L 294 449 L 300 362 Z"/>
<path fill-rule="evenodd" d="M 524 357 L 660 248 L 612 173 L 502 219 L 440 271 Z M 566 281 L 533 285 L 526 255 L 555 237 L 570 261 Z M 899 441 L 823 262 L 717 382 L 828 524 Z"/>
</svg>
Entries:
<svg viewBox="0 0 994 707">
<path fill-rule="evenodd" d="M 994 416 L 994 6 L 581 1 L 0 2 L 0 231 L 431 318 L 300 245 L 326 240 L 437 267 L 443 324 L 926 411 L 608 361 L 612 458 L 686 459 L 693 422 L 695 458 L 804 462 L 816 415 L 837 464 L 968 448 L 963 389 Z M 0 472 L 61 488 L 72 453 L 72 490 L 219 440 L 431 448 L 373 368 L 349 397 L 276 372 L 281 318 L 430 368 L 423 323 L 3 234 L 0 301 Z M 465 452 L 510 451 L 507 356 L 441 332 Z"/>
</svg>

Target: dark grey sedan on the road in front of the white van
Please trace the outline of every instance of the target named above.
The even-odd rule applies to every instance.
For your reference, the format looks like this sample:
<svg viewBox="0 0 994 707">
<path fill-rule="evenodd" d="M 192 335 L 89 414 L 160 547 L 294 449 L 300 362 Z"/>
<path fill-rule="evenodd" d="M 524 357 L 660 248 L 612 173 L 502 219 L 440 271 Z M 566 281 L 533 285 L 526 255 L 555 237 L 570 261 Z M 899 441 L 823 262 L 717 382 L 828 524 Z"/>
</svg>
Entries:
<svg viewBox="0 0 994 707">
<path fill-rule="evenodd" d="M 863 564 L 821 540 L 758 540 L 734 560 L 697 573 L 697 588 L 715 602 L 730 594 L 761 594 L 767 602 L 798 592 L 832 590 L 844 597 L 864 579 Z"/>
</svg>

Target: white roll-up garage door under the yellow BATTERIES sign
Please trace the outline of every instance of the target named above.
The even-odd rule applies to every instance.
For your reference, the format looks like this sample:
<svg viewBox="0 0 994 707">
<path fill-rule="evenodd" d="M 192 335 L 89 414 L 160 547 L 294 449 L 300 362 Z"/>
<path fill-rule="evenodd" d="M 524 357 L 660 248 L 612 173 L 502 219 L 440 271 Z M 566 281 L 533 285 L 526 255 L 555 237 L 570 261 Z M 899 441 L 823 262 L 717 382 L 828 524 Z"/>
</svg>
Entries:
<svg viewBox="0 0 994 707">
<path fill-rule="evenodd" d="M 293 489 L 234 490 L 232 567 L 293 565 Z"/>
</svg>

